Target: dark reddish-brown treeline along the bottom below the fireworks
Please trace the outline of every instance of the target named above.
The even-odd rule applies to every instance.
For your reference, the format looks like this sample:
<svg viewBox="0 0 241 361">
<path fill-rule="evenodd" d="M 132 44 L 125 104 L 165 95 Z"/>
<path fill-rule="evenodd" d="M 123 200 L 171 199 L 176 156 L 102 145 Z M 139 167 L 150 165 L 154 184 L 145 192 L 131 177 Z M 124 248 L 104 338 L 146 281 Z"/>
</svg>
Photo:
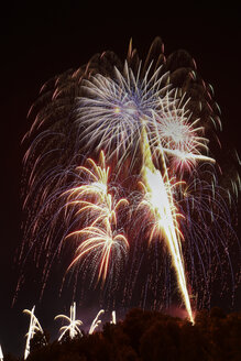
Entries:
<svg viewBox="0 0 241 361">
<path fill-rule="evenodd" d="M 44 340 L 46 342 L 47 335 Z M 17 361 L 6 355 L 4 361 Z M 31 342 L 28 361 L 241 361 L 241 313 L 201 310 L 195 325 L 157 311 L 130 310 L 123 321 L 101 331 L 44 346 Z"/>
</svg>

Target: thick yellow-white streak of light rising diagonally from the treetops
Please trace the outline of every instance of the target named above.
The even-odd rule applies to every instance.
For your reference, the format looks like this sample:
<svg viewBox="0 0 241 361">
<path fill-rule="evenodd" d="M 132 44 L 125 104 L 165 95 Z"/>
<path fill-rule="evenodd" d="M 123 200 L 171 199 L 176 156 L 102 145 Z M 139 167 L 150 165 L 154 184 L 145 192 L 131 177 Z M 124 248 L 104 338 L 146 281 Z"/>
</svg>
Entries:
<svg viewBox="0 0 241 361">
<path fill-rule="evenodd" d="M 144 155 L 142 177 L 143 185 L 145 187 L 145 195 L 141 206 L 147 206 L 150 216 L 154 216 L 155 219 L 155 223 L 150 236 L 150 242 L 154 236 L 158 236 L 160 239 L 164 238 L 166 241 L 168 251 L 172 256 L 173 266 L 176 272 L 179 291 L 183 296 L 189 319 L 194 324 L 179 241 L 180 231 L 178 229 L 177 215 L 173 204 L 167 169 L 165 169 L 165 177 L 163 177 L 161 172 L 154 167 L 151 157 L 147 134 L 144 129 L 142 138 Z"/>
</svg>

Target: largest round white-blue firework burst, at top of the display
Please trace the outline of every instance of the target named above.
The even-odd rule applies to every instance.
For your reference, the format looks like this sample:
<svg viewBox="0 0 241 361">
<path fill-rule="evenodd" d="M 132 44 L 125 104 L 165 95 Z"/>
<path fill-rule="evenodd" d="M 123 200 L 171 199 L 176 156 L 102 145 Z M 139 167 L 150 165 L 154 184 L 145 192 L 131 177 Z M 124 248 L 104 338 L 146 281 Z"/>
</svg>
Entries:
<svg viewBox="0 0 241 361">
<path fill-rule="evenodd" d="M 107 157 L 117 156 L 119 165 L 130 155 L 134 158 L 143 123 L 151 129 L 153 111 L 173 92 L 168 73 L 161 76 L 158 67 L 150 76 L 150 69 L 141 78 L 141 64 L 134 75 L 125 62 L 123 74 L 114 67 L 113 78 L 97 74 L 84 81 L 87 96 L 77 101 L 76 123 L 85 149 L 105 150 Z"/>
</svg>

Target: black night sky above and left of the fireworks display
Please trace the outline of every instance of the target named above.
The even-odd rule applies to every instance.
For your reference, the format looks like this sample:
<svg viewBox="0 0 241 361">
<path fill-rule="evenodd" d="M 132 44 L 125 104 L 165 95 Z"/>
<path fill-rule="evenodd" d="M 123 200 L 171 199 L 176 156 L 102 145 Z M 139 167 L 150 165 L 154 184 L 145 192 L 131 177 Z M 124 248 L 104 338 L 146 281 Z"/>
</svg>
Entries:
<svg viewBox="0 0 241 361">
<path fill-rule="evenodd" d="M 48 78 L 77 68 L 95 53 L 106 50 L 114 51 L 123 59 L 131 37 L 144 57 L 151 42 L 160 35 L 165 54 L 185 48 L 195 58 L 202 78 L 213 86 L 222 112 L 223 133 L 240 150 L 239 9 L 210 8 L 202 2 L 185 8 L 175 8 L 173 3 L 168 9 L 160 4 L 156 9 L 146 2 L 140 7 L 147 9 L 130 12 L 121 2 L 112 2 L 112 8 L 83 6 L 83 1 L 50 2 L 46 6 L 40 1 L 36 6 L 34 1 L 11 1 L 1 11 L 0 343 L 3 352 L 23 351 L 29 319 L 22 309 L 37 302 L 30 289 L 11 308 L 18 280 L 13 259 L 22 241 L 20 178 L 24 149 L 21 139 L 30 127 L 28 110 Z M 69 302 L 53 300 L 48 292 L 36 304 L 36 315 L 53 337 L 59 326 L 53 318 L 68 310 Z M 85 319 L 79 313 L 78 317 Z"/>
</svg>

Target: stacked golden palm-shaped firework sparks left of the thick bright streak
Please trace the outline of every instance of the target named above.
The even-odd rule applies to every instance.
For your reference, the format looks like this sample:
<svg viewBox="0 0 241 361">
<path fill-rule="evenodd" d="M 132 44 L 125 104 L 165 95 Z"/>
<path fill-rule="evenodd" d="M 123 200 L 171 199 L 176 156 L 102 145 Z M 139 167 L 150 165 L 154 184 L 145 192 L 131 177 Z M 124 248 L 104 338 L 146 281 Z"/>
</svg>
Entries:
<svg viewBox="0 0 241 361">
<path fill-rule="evenodd" d="M 129 248 L 127 238 L 117 231 L 117 211 L 122 205 L 128 205 L 128 200 L 121 198 L 114 201 L 112 199 L 108 189 L 109 167 L 106 167 L 103 152 L 100 153 L 100 165 L 97 165 L 92 160 L 88 161 L 92 166 L 92 171 L 86 167 L 79 168 L 89 174 L 94 182 L 74 187 L 67 192 L 69 194 L 66 203 L 67 207 L 76 207 L 77 216 L 83 211 L 90 214 L 90 216 L 86 215 L 86 218 L 90 220 L 89 226 L 73 231 L 66 237 L 66 239 L 77 237 L 78 242 L 80 242 L 76 250 L 76 256 L 68 270 L 84 256 L 95 254 L 97 265 L 99 266 L 97 282 L 102 277 L 102 283 L 105 283 L 110 266 L 111 252 L 114 252 L 117 258 L 121 258 Z M 95 197 L 92 201 L 81 199 L 81 197 L 91 198 L 92 196 Z M 114 260 L 116 262 L 118 262 L 117 259 Z"/>
</svg>

